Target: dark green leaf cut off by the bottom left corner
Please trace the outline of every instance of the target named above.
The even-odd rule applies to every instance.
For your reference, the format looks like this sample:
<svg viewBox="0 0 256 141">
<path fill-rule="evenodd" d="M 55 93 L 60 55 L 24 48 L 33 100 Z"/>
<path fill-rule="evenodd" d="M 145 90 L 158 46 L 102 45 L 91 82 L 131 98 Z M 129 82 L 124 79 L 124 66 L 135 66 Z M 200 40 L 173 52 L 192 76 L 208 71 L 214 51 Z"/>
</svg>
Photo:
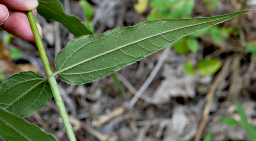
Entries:
<svg viewBox="0 0 256 141">
<path fill-rule="evenodd" d="M 39 126 L 30 124 L 2 108 L 0 108 L 0 137 L 5 141 L 58 141 Z"/>
</svg>

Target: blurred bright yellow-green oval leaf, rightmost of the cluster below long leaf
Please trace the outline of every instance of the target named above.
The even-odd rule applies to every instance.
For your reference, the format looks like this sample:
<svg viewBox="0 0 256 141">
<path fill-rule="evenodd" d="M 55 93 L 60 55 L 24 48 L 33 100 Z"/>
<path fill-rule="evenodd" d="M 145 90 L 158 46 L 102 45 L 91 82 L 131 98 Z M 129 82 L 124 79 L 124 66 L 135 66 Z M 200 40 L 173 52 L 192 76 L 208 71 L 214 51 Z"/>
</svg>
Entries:
<svg viewBox="0 0 256 141">
<path fill-rule="evenodd" d="M 216 59 L 202 60 L 197 63 L 197 69 L 202 76 L 215 74 L 221 67 L 221 62 Z"/>
</svg>

